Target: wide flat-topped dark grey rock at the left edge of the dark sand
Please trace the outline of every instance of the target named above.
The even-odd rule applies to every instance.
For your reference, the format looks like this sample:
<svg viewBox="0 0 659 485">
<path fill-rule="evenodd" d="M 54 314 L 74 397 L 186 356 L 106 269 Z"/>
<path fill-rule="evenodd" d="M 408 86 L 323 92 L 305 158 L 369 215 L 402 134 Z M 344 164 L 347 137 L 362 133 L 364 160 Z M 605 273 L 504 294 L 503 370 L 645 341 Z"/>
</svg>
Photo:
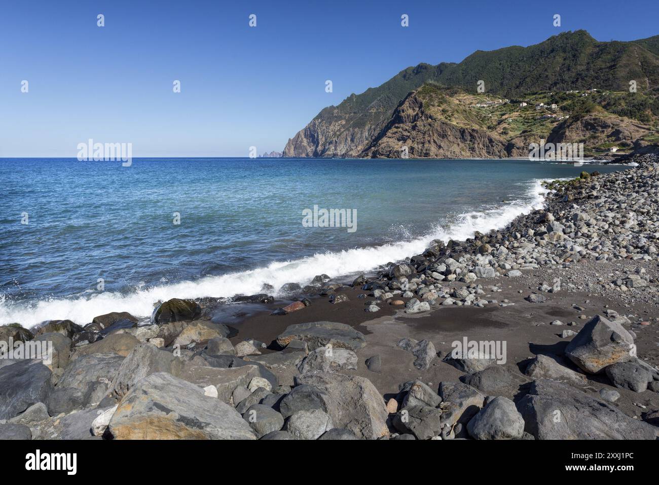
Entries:
<svg viewBox="0 0 659 485">
<path fill-rule="evenodd" d="M 277 344 L 285 347 L 291 340 L 303 340 L 309 350 L 331 344 L 333 347 L 357 350 L 366 345 L 364 334 L 345 323 L 314 321 L 290 325 L 279 337 Z"/>
</svg>

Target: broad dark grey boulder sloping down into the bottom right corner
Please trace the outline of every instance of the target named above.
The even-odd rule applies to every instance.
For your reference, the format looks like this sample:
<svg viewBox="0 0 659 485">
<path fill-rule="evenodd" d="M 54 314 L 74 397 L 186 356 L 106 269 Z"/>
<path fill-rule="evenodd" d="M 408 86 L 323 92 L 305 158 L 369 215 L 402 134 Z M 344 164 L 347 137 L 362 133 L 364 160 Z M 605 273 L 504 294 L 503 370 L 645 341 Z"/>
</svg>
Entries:
<svg viewBox="0 0 659 485">
<path fill-rule="evenodd" d="M 594 396 L 567 384 L 538 379 L 517 409 L 525 431 L 536 439 L 656 439 L 657 428 Z"/>
</svg>

